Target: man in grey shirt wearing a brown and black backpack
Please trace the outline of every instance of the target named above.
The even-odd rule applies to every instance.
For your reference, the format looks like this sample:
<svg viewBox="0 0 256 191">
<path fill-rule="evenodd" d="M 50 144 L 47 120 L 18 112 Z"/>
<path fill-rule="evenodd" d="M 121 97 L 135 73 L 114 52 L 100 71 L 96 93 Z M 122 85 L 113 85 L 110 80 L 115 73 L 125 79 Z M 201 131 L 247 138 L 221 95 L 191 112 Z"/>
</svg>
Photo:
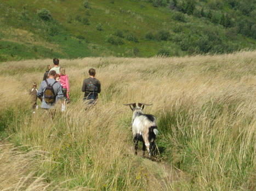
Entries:
<svg viewBox="0 0 256 191">
<path fill-rule="evenodd" d="M 42 81 L 36 93 L 39 98 L 43 97 L 41 105 L 43 109 L 52 108 L 59 99 L 63 98 L 61 85 L 54 79 L 55 75 L 55 70 L 49 71 L 48 79 Z"/>
</svg>

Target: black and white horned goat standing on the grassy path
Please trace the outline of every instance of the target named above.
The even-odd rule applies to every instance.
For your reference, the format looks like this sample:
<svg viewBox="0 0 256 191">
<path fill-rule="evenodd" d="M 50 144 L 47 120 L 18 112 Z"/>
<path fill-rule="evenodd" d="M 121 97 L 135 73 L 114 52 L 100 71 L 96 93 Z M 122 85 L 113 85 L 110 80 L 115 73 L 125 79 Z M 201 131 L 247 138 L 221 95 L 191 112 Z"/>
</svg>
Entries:
<svg viewBox="0 0 256 191">
<path fill-rule="evenodd" d="M 143 157 L 145 157 L 145 150 L 149 151 L 149 156 L 152 156 L 155 151 L 155 139 L 158 134 L 156 117 L 150 114 L 143 114 L 143 109 L 145 105 L 152 104 L 143 104 L 143 103 L 130 103 L 124 104 L 129 105 L 130 109 L 133 111 L 132 119 L 132 132 L 133 132 L 133 141 L 135 154 L 138 150 L 138 142 L 143 142 Z"/>
</svg>

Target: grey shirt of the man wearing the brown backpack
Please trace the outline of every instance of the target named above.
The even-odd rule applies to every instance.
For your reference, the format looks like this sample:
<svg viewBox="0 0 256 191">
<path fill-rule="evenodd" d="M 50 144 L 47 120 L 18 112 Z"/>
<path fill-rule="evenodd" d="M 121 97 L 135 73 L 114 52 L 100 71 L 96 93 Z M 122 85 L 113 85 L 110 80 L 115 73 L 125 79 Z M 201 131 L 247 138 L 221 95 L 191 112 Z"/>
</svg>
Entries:
<svg viewBox="0 0 256 191">
<path fill-rule="evenodd" d="M 55 82 L 54 79 L 50 79 L 50 78 L 48 78 L 47 81 L 48 81 L 49 85 L 53 85 L 53 83 Z M 47 87 L 46 82 L 42 81 L 42 83 L 41 83 L 41 85 L 40 85 L 36 94 L 37 94 L 38 97 L 43 97 L 41 108 L 50 109 L 58 101 L 58 99 L 63 98 L 63 93 L 62 93 L 62 88 L 61 88 L 60 83 L 59 82 L 55 83 L 53 85 L 53 90 L 54 90 L 54 93 L 55 93 L 55 96 L 56 96 L 55 102 L 53 104 L 47 104 L 44 101 L 44 91 L 45 91 L 46 87 Z"/>
</svg>

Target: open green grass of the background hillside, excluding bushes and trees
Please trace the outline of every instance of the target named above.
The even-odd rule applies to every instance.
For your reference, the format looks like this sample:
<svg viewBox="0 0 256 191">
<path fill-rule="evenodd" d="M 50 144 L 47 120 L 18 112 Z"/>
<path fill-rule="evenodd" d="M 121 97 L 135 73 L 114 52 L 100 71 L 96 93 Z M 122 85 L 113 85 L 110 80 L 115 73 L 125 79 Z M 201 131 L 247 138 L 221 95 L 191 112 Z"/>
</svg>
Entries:
<svg viewBox="0 0 256 191">
<path fill-rule="evenodd" d="M 196 52 L 197 41 L 204 35 L 211 34 L 217 44 L 225 47 L 223 51 L 243 48 L 255 48 L 255 40 L 236 35 L 230 39 L 226 29 L 214 25 L 205 18 L 185 15 L 186 23 L 175 21 L 175 11 L 167 7 L 155 8 L 144 1 L 92 1 L 92 9 L 85 9 L 83 1 L 4 1 L 1 2 L 0 53 L 1 61 L 22 58 L 77 58 L 85 56 L 134 56 L 133 49 L 139 49 L 138 56 L 156 55 L 161 49 L 169 51 L 170 56 L 186 55 Z M 198 6 L 206 6 L 198 2 Z M 206 6 L 207 7 L 207 6 Z M 47 8 L 54 21 L 44 22 L 36 15 L 37 10 Z M 227 9 L 225 11 L 231 11 Z M 22 12 L 26 16 L 22 16 Z M 89 25 L 82 23 L 83 18 Z M 96 26 L 101 23 L 103 31 Z M 180 29 L 177 27 L 180 26 Z M 123 45 L 111 45 L 106 38 L 119 29 L 123 32 Z M 168 41 L 146 40 L 151 31 L 162 29 L 170 32 Z M 11 31 L 11 32 L 9 32 Z M 54 31 L 54 34 L 52 33 Z M 176 31 L 176 32 L 174 32 Z M 128 34 L 133 34 L 139 42 L 128 41 Z M 191 49 L 181 51 L 183 39 L 190 41 Z M 190 38 L 191 37 L 191 38 Z M 185 42 L 186 43 L 186 42 Z M 221 48 L 217 47 L 216 50 Z"/>
</svg>

